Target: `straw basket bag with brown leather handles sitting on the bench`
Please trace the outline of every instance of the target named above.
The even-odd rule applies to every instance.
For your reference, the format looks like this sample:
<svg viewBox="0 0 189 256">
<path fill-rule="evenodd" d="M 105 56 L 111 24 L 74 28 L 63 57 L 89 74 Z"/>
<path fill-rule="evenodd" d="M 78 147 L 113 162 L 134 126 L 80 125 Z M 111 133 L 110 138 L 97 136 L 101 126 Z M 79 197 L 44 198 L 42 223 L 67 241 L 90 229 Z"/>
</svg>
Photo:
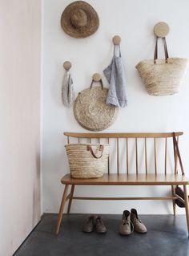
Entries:
<svg viewBox="0 0 189 256">
<path fill-rule="evenodd" d="M 109 144 L 66 144 L 71 177 L 103 177 L 107 171 L 109 147 Z"/>
</svg>

